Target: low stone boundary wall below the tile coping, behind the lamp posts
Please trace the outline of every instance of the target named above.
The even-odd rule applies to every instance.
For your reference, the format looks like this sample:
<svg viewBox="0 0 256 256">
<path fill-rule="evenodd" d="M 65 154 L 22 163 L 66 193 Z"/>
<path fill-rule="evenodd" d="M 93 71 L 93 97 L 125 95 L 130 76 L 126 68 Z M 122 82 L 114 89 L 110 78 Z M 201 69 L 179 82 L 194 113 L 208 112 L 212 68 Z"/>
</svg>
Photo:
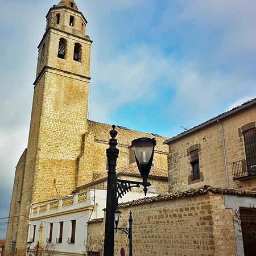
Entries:
<svg viewBox="0 0 256 256">
<path fill-rule="evenodd" d="M 234 234 L 232 210 L 225 209 L 223 195 L 208 193 L 120 210 L 120 228 L 128 226 L 129 212 L 133 212 L 134 255 L 236 255 L 234 236 L 230 236 L 228 242 L 222 240 L 222 230 L 228 229 Z M 103 230 L 104 222 L 89 224 L 89 246 L 102 236 Z M 114 255 L 119 255 L 121 247 L 128 255 L 129 240 L 117 232 Z"/>
</svg>

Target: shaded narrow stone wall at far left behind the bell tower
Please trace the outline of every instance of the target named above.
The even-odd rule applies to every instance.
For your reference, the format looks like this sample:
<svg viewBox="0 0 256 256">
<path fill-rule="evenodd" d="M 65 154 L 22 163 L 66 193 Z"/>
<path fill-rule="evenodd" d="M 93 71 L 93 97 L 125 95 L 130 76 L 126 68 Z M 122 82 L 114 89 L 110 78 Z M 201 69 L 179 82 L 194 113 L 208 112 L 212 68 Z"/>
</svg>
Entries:
<svg viewBox="0 0 256 256">
<path fill-rule="evenodd" d="M 14 185 L 13 185 L 13 195 L 11 197 L 10 213 L 8 228 L 6 234 L 6 245 L 5 245 L 5 255 L 10 255 L 11 252 L 11 242 L 16 241 L 18 225 L 19 225 L 19 215 L 20 215 L 20 204 L 22 200 L 23 191 L 23 177 L 26 164 L 26 154 L 27 150 L 24 150 L 19 162 L 16 166 Z M 15 217 L 14 217 L 15 216 Z"/>
</svg>

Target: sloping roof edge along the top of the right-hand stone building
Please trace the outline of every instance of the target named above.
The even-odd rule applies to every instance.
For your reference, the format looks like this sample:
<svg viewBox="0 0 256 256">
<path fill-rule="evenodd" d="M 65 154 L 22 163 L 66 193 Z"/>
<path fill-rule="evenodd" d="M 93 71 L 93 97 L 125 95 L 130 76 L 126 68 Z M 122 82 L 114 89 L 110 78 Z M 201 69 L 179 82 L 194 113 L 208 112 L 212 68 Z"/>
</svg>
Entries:
<svg viewBox="0 0 256 256">
<path fill-rule="evenodd" d="M 244 103 L 241 104 L 241 105 L 236 106 L 236 107 L 233 108 L 233 109 L 230 109 L 230 110 L 228 110 L 228 111 L 226 111 L 226 112 L 224 112 L 224 113 L 221 113 L 221 114 L 219 114 L 219 115 L 216 115 L 216 117 L 212 117 L 212 118 L 210 118 L 209 120 L 207 120 L 207 121 L 205 121 L 205 122 L 203 122 L 203 123 L 200 123 L 199 125 L 196 125 L 196 126 L 190 128 L 190 129 L 188 129 L 188 130 L 185 130 L 185 131 L 183 131 L 182 133 L 179 133 L 179 134 L 175 135 L 174 137 L 172 137 L 172 138 L 170 138 L 170 139 L 167 139 L 167 140 L 164 141 L 163 143 L 164 143 L 164 144 L 168 144 L 168 143 L 170 143 L 170 142 L 172 142 L 172 141 L 176 141 L 176 139 L 179 139 L 179 138 L 181 138 L 181 137 L 183 137 L 183 136 L 185 136 L 185 135 L 191 134 L 191 133 L 193 133 L 193 132 L 195 132 L 195 131 L 197 131 L 197 130 L 199 130 L 199 129 L 205 127 L 205 126 L 210 125 L 210 124 L 213 123 L 213 122 L 220 121 L 221 119 L 224 119 L 224 118 L 226 118 L 226 117 L 229 117 L 230 115 L 233 115 L 233 114 L 235 114 L 235 113 L 237 113 L 237 112 L 240 112 L 241 110 L 246 109 L 246 108 L 249 108 L 250 106 L 255 105 L 255 104 L 256 104 L 256 98 L 253 98 L 253 99 L 251 99 L 251 100 L 249 100 L 249 101 L 244 102 Z"/>
</svg>

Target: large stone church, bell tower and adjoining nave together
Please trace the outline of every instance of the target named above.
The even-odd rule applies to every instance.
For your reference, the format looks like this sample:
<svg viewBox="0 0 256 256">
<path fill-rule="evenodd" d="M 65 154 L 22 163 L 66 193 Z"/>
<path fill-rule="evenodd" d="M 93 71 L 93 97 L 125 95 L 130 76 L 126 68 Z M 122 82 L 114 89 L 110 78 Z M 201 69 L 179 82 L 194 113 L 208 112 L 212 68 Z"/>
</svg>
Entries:
<svg viewBox="0 0 256 256">
<path fill-rule="evenodd" d="M 105 150 L 112 128 L 86 116 L 92 45 L 87 20 L 73 0 L 51 7 L 46 19 L 38 46 L 28 145 L 16 166 L 5 255 L 24 255 L 31 203 L 69 195 L 107 172 Z M 117 131 L 118 168 L 134 162 L 133 139 L 156 138 L 154 167 L 163 171 L 165 184 L 157 189 L 167 191 L 167 138 L 122 126 Z"/>
</svg>

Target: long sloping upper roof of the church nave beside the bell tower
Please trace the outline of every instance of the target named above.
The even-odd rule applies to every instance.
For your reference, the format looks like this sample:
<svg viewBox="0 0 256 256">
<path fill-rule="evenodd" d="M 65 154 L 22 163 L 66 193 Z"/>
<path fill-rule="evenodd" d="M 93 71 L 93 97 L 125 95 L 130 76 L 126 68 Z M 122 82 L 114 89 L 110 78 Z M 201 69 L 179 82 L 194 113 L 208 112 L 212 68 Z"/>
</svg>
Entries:
<svg viewBox="0 0 256 256">
<path fill-rule="evenodd" d="M 95 135 L 96 141 L 109 142 L 109 131 L 112 130 L 112 125 L 88 120 L 88 130 L 92 131 L 92 133 Z M 163 142 L 167 139 L 166 137 L 156 137 L 150 133 L 143 133 L 142 131 L 130 129 L 126 130 L 118 127 L 116 127 L 115 130 L 118 131 L 117 142 L 120 145 L 129 147 L 131 146 L 131 141 L 134 139 L 149 137 L 156 139 L 155 150 L 168 153 L 168 147 L 163 145 Z"/>
</svg>

